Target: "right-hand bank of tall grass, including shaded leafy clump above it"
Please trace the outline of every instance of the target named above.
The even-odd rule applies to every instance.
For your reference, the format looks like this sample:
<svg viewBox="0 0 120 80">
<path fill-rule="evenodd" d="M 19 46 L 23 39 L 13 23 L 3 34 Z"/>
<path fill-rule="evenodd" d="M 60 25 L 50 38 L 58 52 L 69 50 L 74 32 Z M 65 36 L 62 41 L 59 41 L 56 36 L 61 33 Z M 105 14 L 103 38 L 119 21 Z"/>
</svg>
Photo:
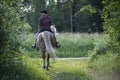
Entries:
<svg viewBox="0 0 120 80">
<path fill-rule="evenodd" d="M 119 52 L 109 50 L 103 37 L 94 42 L 93 51 L 89 51 L 89 67 L 99 80 L 120 80 Z"/>
</svg>

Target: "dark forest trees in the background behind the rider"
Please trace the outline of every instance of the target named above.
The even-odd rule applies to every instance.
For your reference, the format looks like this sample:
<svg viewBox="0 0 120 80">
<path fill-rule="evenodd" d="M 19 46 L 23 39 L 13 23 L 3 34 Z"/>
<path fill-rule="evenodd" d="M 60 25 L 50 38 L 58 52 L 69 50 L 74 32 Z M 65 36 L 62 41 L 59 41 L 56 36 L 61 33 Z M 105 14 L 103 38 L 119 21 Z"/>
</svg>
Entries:
<svg viewBox="0 0 120 80">
<path fill-rule="evenodd" d="M 103 20 L 100 16 L 103 8 L 101 0 L 48 0 L 47 6 L 45 6 L 45 1 L 24 0 L 24 7 L 28 9 L 26 10 L 27 21 L 32 26 L 33 32 L 36 32 L 38 28 L 39 11 L 44 8 L 48 10 L 59 32 L 103 31 Z"/>
</svg>

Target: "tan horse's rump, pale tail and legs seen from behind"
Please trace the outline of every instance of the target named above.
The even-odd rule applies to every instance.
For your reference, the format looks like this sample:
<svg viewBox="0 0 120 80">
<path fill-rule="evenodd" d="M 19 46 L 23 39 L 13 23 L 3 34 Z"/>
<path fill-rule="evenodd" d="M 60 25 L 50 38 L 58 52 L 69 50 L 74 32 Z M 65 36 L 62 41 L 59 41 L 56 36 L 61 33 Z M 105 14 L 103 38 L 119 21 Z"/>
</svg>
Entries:
<svg viewBox="0 0 120 80">
<path fill-rule="evenodd" d="M 55 55 L 55 39 L 54 34 L 49 31 L 43 31 L 38 34 L 37 37 L 37 48 L 40 50 L 40 53 L 42 54 L 43 59 L 43 68 L 46 70 L 49 70 L 50 57 L 55 61 L 56 55 Z M 47 60 L 46 60 L 46 53 L 47 52 Z M 47 63 L 46 63 L 47 62 Z"/>
</svg>

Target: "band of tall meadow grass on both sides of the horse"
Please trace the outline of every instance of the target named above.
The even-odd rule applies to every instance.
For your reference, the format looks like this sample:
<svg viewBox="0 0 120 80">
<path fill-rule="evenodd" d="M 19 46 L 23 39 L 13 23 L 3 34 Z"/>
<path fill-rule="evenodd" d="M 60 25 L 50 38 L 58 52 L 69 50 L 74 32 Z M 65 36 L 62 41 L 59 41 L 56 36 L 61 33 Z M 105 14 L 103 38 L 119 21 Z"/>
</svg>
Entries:
<svg viewBox="0 0 120 80">
<path fill-rule="evenodd" d="M 82 57 L 88 56 L 88 52 L 94 49 L 94 42 L 101 39 L 102 34 L 94 33 L 59 33 L 57 40 L 61 47 L 56 49 L 58 57 Z M 40 57 L 39 50 L 32 49 L 35 34 L 29 34 L 23 39 L 23 47 L 30 53 L 31 57 Z"/>
</svg>

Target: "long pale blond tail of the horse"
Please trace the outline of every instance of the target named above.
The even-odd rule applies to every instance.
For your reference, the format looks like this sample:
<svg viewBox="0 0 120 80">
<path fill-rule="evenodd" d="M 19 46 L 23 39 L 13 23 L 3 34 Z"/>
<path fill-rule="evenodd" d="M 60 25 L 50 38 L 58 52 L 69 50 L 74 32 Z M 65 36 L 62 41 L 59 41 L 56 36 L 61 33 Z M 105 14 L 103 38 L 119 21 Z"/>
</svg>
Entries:
<svg viewBox="0 0 120 80">
<path fill-rule="evenodd" d="M 50 32 L 45 31 L 42 33 L 42 38 L 44 40 L 45 47 L 46 47 L 48 54 L 50 54 L 50 56 L 53 58 L 53 60 L 55 60 L 56 55 L 55 55 L 55 51 L 51 44 L 50 35 L 51 35 Z"/>
</svg>

